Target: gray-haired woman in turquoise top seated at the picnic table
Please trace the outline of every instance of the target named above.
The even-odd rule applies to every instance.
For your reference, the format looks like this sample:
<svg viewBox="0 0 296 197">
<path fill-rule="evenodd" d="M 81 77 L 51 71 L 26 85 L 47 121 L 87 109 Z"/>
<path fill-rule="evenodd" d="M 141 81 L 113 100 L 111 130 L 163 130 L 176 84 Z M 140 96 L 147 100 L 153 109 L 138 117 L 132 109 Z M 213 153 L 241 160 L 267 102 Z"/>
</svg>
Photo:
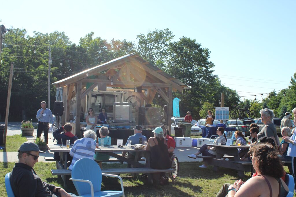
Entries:
<svg viewBox="0 0 296 197">
<path fill-rule="evenodd" d="M 108 127 L 102 126 L 100 128 L 99 134 L 101 137 L 98 139 L 99 145 L 101 145 L 101 143 L 103 143 L 104 146 L 110 146 L 111 145 L 111 138 L 109 136 L 107 136 L 109 134 Z M 106 153 L 96 152 L 96 154 L 94 155 L 94 160 L 96 160 L 96 162 L 99 163 L 99 166 L 101 167 L 101 169 L 102 169 L 102 162 L 101 161 L 109 160 L 109 159 L 110 159 L 110 156 L 107 155 Z"/>
</svg>

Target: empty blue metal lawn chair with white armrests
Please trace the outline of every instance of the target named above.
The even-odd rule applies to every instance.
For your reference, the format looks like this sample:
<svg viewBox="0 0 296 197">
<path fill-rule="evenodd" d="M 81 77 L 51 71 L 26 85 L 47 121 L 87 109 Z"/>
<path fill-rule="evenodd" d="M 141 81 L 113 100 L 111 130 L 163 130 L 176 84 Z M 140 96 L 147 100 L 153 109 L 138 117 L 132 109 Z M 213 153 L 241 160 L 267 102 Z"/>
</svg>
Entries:
<svg viewBox="0 0 296 197">
<path fill-rule="evenodd" d="M 101 191 L 102 175 L 117 177 L 120 179 L 121 191 Z M 82 158 L 73 165 L 72 178 L 73 184 L 79 196 L 123 196 L 123 181 L 118 175 L 104 174 L 99 165 L 92 159 Z"/>
</svg>

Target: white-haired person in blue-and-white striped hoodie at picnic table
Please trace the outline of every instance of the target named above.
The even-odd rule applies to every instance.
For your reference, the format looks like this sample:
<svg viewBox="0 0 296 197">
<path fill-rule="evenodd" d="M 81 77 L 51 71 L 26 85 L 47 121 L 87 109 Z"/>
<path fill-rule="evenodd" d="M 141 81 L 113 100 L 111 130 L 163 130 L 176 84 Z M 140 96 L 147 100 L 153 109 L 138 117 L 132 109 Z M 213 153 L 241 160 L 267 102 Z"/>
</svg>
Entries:
<svg viewBox="0 0 296 197">
<path fill-rule="evenodd" d="M 84 131 L 83 138 L 75 141 L 70 150 L 70 155 L 73 159 L 71 165 L 69 166 L 69 170 L 72 170 L 74 163 L 78 161 L 78 159 L 94 159 L 94 151 L 96 150 L 96 143 L 94 142 L 94 139 L 96 139 L 96 133 L 92 130 L 87 130 Z"/>
</svg>

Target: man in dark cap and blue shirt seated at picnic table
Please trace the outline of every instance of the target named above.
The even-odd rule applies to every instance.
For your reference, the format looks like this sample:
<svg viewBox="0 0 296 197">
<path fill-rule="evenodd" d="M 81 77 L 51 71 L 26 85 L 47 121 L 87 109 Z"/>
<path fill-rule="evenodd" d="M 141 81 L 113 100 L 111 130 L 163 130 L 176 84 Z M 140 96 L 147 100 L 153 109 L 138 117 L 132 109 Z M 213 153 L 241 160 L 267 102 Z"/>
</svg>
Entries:
<svg viewBox="0 0 296 197">
<path fill-rule="evenodd" d="M 147 141 L 146 136 L 142 135 L 142 126 L 141 125 L 137 125 L 134 129 L 134 135 L 129 136 L 128 140 L 131 140 L 131 145 L 134 144 L 139 144 L 139 139 L 142 138 L 142 143 L 144 141 Z M 128 140 L 126 141 L 126 146 L 128 145 Z M 127 159 L 135 159 L 136 156 L 136 152 L 122 152 L 122 157 L 125 157 Z M 139 160 L 140 158 L 138 158 L 137 160 Z M 123 163 L 123 161 L 120 161 L 120 163 Z M 129 165 L 128 165 L 129 166 Z"/>
</svg>

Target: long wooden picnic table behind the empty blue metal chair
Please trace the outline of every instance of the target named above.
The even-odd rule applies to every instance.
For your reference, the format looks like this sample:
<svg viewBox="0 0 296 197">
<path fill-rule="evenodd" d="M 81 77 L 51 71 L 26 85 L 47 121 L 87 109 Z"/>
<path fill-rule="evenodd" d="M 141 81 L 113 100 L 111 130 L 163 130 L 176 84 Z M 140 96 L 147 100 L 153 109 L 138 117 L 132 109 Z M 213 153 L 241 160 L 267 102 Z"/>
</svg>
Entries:
<svg viewBox="0 0 296 197">
<path fill-rule="evenodd" d="M 67 152 L 70 152 L 72 145 L 70 145 L 70 148 L 67 149 L 66 146 L 61 145 L 51 145 L 48 144 L 48 149 L 50 152 L 59 152 L 60 155 L 60 161 L 56 161 L 57 170 L 51 170 L 52 175 L 60 175 L 62 179 L 64 180 L 64 186 L 66 185 L 66 175 L 71 175 L 71 170 L 67 169 Z M 132 149 L 128 146 L 99 146 L 99 148 L 96 148 L 95 152 L 102 152 L 110 155 L 111 157 L 115 157 L 119 160 L 122 160 L 124 162 L 127 162 L 131 165 L 132 168 L 116 168 L 116 169 L 102 169 L 102 173 L 112 173 L 112 174 L 137 174 L 137 173 L 147 173 L 148 181 L 152 182 L 152 176 L 150 173 L 152 172 L 171 172 L 173 169 L 166 169 L 166 170 L 157 170 L 150 168 L 150 152 L 146 149 Z M 127 159 L 125 157 L 122 157 L 121 154 L 116 154 L 121 152 L 136 152 L 136 156 L 134 160 Z M 65 156 L 63 156 L 65 154 Z M 138 156 L 145 157 L 146 163 L 142 164 L 139 161 L 137 161 Z M 63 160 L 65 158 L 65 160 Z M 135 168 L 136 167 L 136 168 Z"/>
</svg>

